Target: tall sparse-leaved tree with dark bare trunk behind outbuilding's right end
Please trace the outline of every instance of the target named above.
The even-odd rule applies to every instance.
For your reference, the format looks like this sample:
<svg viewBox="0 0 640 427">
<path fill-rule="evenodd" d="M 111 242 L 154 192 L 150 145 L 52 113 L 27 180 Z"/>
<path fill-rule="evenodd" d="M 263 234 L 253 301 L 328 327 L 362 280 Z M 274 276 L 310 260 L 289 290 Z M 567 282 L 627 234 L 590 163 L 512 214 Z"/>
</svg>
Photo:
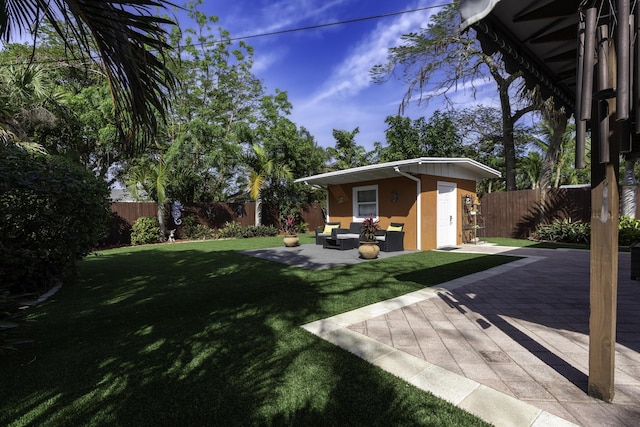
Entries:
<svg viewBox="0 0 640 427">
<path fill-rule="evenodd" d="M 400 105 L 402 113 L 417 92 L 418 104 L 444 97 L 453 104 L 449 95 L 461 88 L 476 93 L 474 82 L 481 77 L 492 78 L 498 89 L 501 110 L 502 148 L 505 161 L 507 190 L 516 189 L 516 149 L 514 128 L 516 122 L 534 110 L 534 104 L 524 97 L 523 104 L 512 105 L 511 96 L 520 85 L 521 72 L 509 74 L 502 57 L 485 54 L 473 30 L 460 32 L 458 1 L 433 15 L 426 28 L 405 34 L 403 44 L 389 50 L 387 64 L 372 70 L 376 82 L 384 82 L 401 69 L 401 78 L 408 90 Z M 522 93 L 522 92 L 521 92 Z"/>
</svg>

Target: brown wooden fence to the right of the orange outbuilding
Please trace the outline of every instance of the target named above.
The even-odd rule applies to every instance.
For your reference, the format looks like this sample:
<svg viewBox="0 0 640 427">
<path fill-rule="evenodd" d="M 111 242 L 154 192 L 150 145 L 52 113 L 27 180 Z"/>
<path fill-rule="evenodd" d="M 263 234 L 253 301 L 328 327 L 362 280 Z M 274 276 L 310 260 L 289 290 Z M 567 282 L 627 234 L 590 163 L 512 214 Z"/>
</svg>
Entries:
<svg viewBox="0 0 640 427">
<path fill-rule="evenodd" d="M 488 193 L 480 198 L 485 237 L 527 238 L 536 227 L 555 219 L 591 221 L 590 188 L 551 188 L 542 204 L 541 190 Z M 640 191 L 636 191 L 636 218 Z"/>
</svg>

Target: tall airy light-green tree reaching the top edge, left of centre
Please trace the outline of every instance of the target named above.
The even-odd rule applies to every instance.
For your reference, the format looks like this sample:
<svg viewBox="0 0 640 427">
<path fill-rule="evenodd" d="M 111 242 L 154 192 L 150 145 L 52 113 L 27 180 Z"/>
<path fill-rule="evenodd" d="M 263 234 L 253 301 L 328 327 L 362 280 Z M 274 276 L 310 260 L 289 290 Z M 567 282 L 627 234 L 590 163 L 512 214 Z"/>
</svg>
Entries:
<svg viewBox="0 0 640 427">
<path fill-rule="evenodd" d="M 162 137 L 166 149 L 172 147 L 167 193 L 182 202 L 245 194 L 243 144 L 255 142 L 265 90 L 251 71 L 253 48 L 214 27 L 218 18 L 201 12 L 201 5 L 189 2 L 193 26 L 174 28 L 169 37 L 176 52 L 171 69 L 181 85 Z"/>
</svg>

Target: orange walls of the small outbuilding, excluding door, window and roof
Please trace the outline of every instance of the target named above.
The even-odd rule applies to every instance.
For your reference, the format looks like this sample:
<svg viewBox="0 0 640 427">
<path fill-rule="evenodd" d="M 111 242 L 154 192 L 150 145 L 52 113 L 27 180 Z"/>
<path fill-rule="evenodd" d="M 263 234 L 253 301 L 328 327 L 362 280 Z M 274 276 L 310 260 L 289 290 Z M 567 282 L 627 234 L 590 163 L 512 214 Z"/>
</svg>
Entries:
<svg viewBox="0 0 640 427">
<path fill-rule="evenodd" d="M 419 178 L 422 186 L 422 194 L 420 196 L 422 204 L 422 250 L 435 249 L 436 247 L 438 181 L 453 182 L 457 186 L 457 239 L 458 244 L 462 243 L 462 210 L 460 204 L 465 194 L 475 194 L 476 182 L 431 175 L 420 175 Z M 409 178 L 398 177 L 355 184 L 331 185 L 327 192 L 330 221 L 340 221 L 342 227 L 349 227 L 349 224 L 353 221 L 353 187 L 377 185 L 380 228 L 386 229 L 391 222 L 404 223 L 404 247 L 408 250 L 416 250 L 418 248 L 416 184 L 415 181 Z M 392 201 L 394 192 L 398 194 L 395 202 Z"/>
</svg>

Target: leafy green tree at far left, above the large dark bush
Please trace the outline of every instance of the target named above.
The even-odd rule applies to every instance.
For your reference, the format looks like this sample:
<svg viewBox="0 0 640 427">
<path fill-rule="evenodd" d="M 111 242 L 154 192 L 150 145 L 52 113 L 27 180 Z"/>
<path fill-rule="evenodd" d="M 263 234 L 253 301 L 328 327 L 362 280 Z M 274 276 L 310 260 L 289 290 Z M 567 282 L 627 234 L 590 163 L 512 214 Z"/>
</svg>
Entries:
<svg viewBox="0 0 640 427">
<path fill-rule="evenodd" d="M 124 154 L 113 101 L 98 64 L 74 60 L 78 51 L 76 43 L 62 39 L 46 23 L 40 25 L 35 48 L 16 43 L 3 46 L 0 64 L 14 65 L 2 70 L 30 69 L 34 76 L 39 76 L 40 92 L 45 96 L 37 98 L 34 108 L 15 101 L 4 103 L 13 107 L 7 109 L 9 113 L 11 109 L 15 113 L 18 106 L 20 111 L 2 121 L 14 120 L 21 126 L 21 139 L 79 163 L 108 180 L 110 167 L 121 161 Z M 18 73 L 11 75 L 15 78 Z M 0 92 L 4 90 L 0 88 Z"/>
</svg>

